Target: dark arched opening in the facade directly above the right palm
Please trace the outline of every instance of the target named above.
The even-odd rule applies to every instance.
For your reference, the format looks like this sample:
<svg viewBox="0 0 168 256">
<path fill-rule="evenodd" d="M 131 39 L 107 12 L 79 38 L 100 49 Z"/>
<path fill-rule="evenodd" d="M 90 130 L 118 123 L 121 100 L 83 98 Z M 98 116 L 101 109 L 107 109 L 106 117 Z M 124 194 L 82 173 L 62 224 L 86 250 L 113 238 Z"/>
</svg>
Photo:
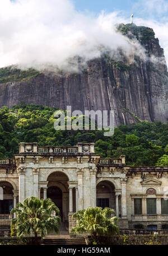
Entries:
<svg viewBox="0 0 168 256">
<path fill-rule="evenodd" d="M 101 181 L 96 187 L 96 205 L 115 210 L 115 187 L 110 181 Z"/>
</svg>

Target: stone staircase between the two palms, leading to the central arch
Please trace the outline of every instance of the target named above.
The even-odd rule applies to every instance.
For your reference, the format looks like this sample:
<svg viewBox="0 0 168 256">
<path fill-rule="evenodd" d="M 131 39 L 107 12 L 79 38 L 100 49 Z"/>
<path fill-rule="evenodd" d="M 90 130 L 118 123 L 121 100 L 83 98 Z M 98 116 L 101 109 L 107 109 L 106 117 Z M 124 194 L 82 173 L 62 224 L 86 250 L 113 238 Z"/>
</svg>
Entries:
<svg viewBox="0 0 168 256">
<path fill-rule="evenodd" d="M 59 234 L 56 234 L 54 231 L 49 232 L 49 234 L 43 239 L 43 243 L 45 245 L 85 244 L 85 238 L 70 237 L 66 226 L 61 224 Z"/>
</svg>

